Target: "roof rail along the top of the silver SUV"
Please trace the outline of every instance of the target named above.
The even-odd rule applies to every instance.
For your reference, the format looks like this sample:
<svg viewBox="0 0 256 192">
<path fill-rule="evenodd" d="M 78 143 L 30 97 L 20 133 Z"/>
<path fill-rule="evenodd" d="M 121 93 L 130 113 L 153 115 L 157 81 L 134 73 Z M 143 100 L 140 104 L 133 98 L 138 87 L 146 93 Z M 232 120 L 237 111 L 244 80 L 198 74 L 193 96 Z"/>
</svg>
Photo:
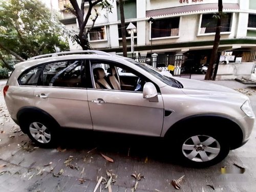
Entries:
<svg viewBox="0 0 256 192">
<path fill-rule="evenodd" d="M 58 52 L 58 53 L 50 53 L 45 55 L 38 55 L 35 57 L 31 57 L 28 60 L 33 59 L 40 59 L 40 58 L 46 58 L 46 57 L 55 57 L 55 56 L 61 56 L 61 55 L 72 55 L 72 54 L 97 54 L 97 55 L 108 55 L 113 56 L 109 53 L 103 52 L 103 51 L 97 51 L 97 50 L 80 50 L 80 51 L 64 51 L 64 52 Z"/>
</svg>

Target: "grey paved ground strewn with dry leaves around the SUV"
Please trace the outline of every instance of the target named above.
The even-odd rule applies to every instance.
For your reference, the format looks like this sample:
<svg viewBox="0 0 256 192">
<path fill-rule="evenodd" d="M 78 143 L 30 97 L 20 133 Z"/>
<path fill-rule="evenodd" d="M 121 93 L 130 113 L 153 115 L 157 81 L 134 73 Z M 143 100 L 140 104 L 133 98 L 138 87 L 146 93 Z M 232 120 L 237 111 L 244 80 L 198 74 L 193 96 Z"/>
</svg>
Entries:
<svg viewBox="0 0 256 192">
<path fill-rule="evenodd" d="M 255 87 L 237 81 L 213 83 L 249 96 L 256 112 Z M 96 191 L 110 191 L 105 188 L 108 181 L 111 191 L 133 191 L 135 185 L 136 191 L 255 191 L 255 129 L 244 146 L 208 168 L 181 166 L 175 161 L 175 146 L 164 146 L 158 138 L 67 130 L 59 133 L 56 147 L 38 148 L 10 119 L 4 81 L 0 84 L 0 191 L 94 191 L 101 177 Z M 140 180 L 133 174 L 140 174 Z M 182 176 L 181 189 L 175 189 L 172 180 Z"/>
</svg>

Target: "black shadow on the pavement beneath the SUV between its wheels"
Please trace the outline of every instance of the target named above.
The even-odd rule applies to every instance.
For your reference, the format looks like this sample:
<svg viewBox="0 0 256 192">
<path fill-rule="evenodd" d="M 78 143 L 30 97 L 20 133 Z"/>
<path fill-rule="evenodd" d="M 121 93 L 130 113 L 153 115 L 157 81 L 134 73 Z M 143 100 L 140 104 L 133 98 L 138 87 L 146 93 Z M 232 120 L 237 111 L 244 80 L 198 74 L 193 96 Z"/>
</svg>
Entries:
<svg viewBox="0 0 256 192">
<path fill-rule="evenodd" d="M 158 137 L 69 129 L 62 132 L 57 144 L 67 150 L 90 151 L 96 148 L 98 152 L 118 154 L 121 157 L 141 160 L 148 157 L 159 162 L 177 163 L 175 157 L 170 155 L 171 146 L 166 146 L 164 139 Z"/>
</svg>

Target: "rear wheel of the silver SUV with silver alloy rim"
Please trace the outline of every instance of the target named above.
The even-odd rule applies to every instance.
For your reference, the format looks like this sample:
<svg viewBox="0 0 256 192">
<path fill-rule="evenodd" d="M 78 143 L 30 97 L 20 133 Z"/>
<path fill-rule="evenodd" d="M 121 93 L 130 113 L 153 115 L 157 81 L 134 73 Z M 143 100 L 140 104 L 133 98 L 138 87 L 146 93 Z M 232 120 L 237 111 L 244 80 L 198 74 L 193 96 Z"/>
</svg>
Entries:
<svg viewBox="0 0 256 192">
<path fill-rule="evenodd" d="M 56 143 L 58 127 L 48 120 L 32 119 L 25 123 L 29 138 L 38 146 L 49 148 Z"/>
</svg>

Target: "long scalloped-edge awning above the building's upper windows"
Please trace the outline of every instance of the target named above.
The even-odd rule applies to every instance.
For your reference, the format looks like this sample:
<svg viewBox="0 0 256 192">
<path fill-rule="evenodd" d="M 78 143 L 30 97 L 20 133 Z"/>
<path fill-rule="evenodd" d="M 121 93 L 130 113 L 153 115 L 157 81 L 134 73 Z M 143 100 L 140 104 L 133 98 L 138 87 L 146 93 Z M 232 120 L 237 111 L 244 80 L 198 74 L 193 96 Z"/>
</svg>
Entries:
<svg viewBox="0 0 256 192">
<path fill-rule="evenodd" d="M 239 4 L 223 4 L 223 11 L 233 11 L 239 10 Z M 146 11 L 146 17 L 154 17 L 160 15 L 174 15 L 180 13 L 197 13 L 200 11 L 218 11 L 218 4 L 197 4 L 197 5 L 187 5 L 179 7 L 170 7 L 164 9 L 155 9 Z"/>
</svg>

